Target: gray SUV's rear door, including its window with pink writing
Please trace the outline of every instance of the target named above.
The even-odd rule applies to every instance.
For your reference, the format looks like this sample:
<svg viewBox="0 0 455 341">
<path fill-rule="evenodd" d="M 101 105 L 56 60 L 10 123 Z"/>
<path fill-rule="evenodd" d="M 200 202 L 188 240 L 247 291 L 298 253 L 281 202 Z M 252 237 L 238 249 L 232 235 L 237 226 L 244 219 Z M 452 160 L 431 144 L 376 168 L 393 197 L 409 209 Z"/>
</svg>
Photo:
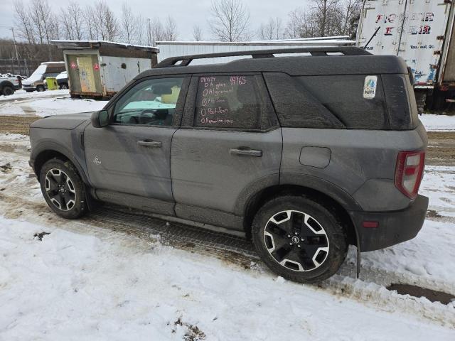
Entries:
<svg viewBox="0 0 455 341">
<path fill-rule="evenodd" d="M 188 207 L 242 215 L 239 197 L 255 183 L 279 183 L 282 133 L 262 75 L 197 75 L 182 128 L 173 136 L 176 214 Z M 200 209 L 191 219 L 200 220 Z"/>
</svg>

